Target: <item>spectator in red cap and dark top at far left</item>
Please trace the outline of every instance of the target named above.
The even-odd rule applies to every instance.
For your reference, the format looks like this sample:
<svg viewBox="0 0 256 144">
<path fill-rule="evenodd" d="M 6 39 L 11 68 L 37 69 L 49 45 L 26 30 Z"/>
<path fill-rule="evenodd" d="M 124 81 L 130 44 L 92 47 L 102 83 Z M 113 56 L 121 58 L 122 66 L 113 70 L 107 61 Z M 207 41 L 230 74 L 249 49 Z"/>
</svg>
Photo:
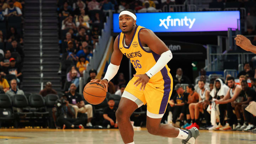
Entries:
<svg viewBox="0 0 256 144">
<path fill-rule="evenodd" d="M 22 81 L 21 66 L 16 63 L 14 58 L 10 58 L 10 66 L 6 68 L 5 74 L 15 75 L 18 83 Z"/>
</svg>

